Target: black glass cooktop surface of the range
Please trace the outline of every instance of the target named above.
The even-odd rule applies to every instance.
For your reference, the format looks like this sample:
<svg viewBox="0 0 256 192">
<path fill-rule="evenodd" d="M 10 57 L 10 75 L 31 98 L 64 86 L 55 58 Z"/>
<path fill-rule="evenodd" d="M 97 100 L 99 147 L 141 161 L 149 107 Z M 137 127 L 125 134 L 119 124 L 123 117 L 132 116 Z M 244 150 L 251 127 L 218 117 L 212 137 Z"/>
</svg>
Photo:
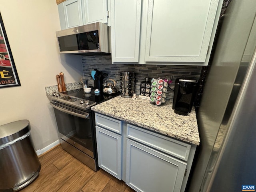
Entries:
<svg viewBox="0 0 256 192">
<path fill-rule="evenodd" d="M 120 93 L 111 94 L 111 95 L 104 94 L 104 93 L 95 94 L 94 93 L 95 89 L 93 87 L 91 87 L 91 88 L 92 88 L 92 91 L 90 93 L 85 93 L 84 90 L 82 88 L 80 88 L 80 89 L 76 89 L 76 90 L 62 92 L 62 94 L 67 94 L 69 96 L 74 96 L 74 97 L 77 97 L 80 99 L 93 101 L 93 102 L 96 102 L 97 104 L 120 95 Z"/>
</svg>

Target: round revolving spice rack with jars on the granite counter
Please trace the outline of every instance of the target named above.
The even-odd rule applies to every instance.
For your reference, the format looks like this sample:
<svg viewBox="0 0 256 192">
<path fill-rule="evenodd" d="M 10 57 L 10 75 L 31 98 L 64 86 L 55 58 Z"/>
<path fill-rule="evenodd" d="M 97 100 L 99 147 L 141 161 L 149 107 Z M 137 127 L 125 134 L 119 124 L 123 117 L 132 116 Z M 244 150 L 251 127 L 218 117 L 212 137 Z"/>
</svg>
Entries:
<svg viewBox="0 0 256 192">
<path fill-rule="evenodd" d="M 121 97 L 131 98 L 135 93 L 135 73 L 124 71 L 120 73 Z"/>
</svg>

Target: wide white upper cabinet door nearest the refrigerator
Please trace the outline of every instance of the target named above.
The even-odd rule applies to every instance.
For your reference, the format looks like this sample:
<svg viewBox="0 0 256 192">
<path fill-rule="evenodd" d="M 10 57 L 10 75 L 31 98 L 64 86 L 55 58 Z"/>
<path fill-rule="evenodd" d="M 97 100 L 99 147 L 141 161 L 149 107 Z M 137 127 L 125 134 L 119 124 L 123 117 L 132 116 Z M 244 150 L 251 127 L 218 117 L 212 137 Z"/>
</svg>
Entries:
<svg viewBox="0 0 256 192">
<path fill-rule="evenodd" d="M 149 0 L 145 61 L 204 62 L 218 2 Z"/>
</svg>

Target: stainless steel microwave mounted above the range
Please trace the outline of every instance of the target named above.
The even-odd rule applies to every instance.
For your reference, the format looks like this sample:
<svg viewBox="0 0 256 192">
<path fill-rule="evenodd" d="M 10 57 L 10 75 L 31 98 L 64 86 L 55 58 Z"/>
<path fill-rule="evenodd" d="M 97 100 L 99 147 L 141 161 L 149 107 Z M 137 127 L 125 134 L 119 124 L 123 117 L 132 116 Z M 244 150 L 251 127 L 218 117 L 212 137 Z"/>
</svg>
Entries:
<svg viewBox="0 0 256 192">
<path fill-rule="evenodd" d="M 62 54 L 110 54 L 110 26 L 97 22 L 56 32 Z"/>
</svg>

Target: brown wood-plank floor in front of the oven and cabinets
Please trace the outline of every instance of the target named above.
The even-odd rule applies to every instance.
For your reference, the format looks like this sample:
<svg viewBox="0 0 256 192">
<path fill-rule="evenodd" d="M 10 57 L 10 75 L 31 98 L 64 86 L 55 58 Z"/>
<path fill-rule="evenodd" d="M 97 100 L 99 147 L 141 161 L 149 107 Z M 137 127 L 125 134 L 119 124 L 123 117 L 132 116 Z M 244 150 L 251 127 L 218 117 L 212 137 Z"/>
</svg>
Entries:
<svg viewBox="0 0 256 192">
<path fill-rule="evenodd" d="M 38 178 L 20 192 L 135 192 L 100 169 L 94 172 L 61 146 L 39 157 Z"/>
</svg>

